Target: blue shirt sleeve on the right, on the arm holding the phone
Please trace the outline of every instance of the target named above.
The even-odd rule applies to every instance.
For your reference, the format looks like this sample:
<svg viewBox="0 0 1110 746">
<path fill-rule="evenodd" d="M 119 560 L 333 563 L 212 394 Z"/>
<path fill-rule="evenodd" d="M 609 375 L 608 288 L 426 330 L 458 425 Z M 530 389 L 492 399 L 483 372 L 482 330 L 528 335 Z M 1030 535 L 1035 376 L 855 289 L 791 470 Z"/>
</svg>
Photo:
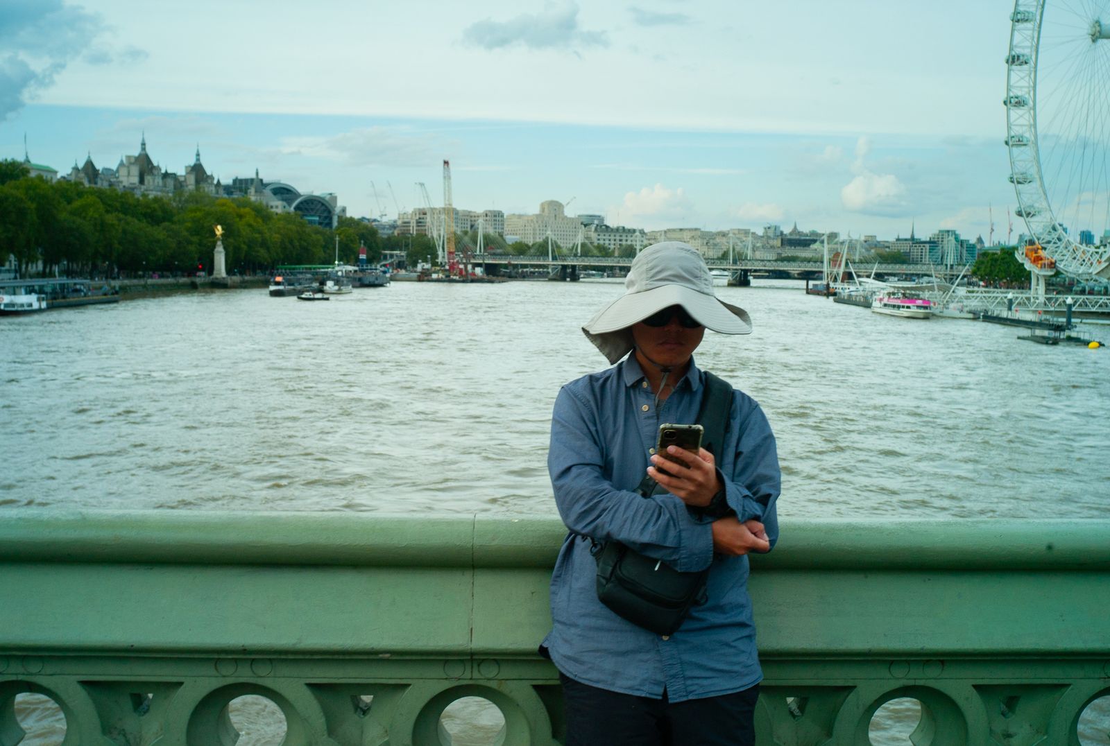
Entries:
<svg viewBox="0 0 1110 746">
<path fill-rule="evenodd" d="M 725 498 L 741 522 L 763 523 L 774 547 L 778 541 L 775 503 L 783 480 L 775 434 L 759 405 L 739 392 L 734 394 L 729 427 L 736 427 L 739 437 L 731 474 L 725 480 Z"/>
</svg>

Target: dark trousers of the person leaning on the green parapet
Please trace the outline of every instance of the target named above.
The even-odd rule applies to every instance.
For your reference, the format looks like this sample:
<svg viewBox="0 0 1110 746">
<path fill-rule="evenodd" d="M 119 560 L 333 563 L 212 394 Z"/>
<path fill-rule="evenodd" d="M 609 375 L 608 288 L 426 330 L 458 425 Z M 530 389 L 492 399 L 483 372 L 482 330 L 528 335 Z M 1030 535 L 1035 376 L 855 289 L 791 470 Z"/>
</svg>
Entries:
<svg viewBox="0 0 1110 746">
<path fill-rule="evenodd" d="M 668 702 L 618 694 L 559 674 L 566 746 L 755 746 L 759 685 L 735 694 Z"/>
</svg>

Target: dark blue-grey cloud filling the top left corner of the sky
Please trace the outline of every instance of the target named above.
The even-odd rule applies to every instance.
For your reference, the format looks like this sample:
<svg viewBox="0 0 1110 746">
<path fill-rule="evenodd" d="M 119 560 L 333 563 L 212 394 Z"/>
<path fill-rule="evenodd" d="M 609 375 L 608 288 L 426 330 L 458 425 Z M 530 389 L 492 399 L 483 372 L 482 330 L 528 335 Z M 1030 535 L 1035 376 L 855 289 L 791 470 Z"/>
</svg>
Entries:
<svg viewBox="0 0 1110 746">
<path fill-rule="evenodd" d="M 119 54 L 102 50 L 97 41 L 107 30 L 100 14 L 62 0 L 3 0 L 0 121 L 19 111 L 36 91 L 53 84 L 54 77 L 78 58 L 93 64 L 145 58 L 147 53 L 134 47 Z"/>
</svg>

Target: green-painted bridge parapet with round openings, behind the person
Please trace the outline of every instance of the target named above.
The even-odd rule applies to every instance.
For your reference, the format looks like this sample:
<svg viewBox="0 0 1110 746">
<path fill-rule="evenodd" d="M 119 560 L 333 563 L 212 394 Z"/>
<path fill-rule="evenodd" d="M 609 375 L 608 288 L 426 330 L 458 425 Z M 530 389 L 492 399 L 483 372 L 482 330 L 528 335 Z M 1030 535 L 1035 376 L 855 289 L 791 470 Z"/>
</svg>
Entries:
<svg viewBox="0 0 1110 746">
<path fill-rule="evenodd" d="M 561 742 L 536 654 L 553 518 L 0 513 L 0 746 L 17 695 L 65 744 L 231 745 L 268 697 L 285 744 L 446 744 L 467 696 L 498 743 Z M 1110 521 L 786 521 L 750 581 L 759 744 L 867 744 L 912 697 L 918 746 L 1073 746 L 1110 694 Z M 680 632 L 678 634 L 682 634 Z M 371 698 L 372 697 L 372 698 Z"/>
</svg>

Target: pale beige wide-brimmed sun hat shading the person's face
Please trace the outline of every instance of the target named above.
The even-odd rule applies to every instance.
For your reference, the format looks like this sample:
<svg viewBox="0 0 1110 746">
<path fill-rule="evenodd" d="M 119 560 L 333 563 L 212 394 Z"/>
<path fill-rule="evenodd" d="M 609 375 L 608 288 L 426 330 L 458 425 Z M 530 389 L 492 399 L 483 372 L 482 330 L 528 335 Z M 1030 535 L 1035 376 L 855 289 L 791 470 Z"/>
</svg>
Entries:
<svg viewBox="0 0 1110 746">
<path fill-rule="evenodd" d="M 680 241 L 655 243 L 639 252 L 625 278 L 625 294 L 582 327 L 610 363 L 633 346 L 632 326 L 656 311 L 680 305 L 706 329 L 722 334 L 750 334 L 751 320 L 738 305 L 713 292 L 713 275 L 694 246 Z"/>
</svg>

